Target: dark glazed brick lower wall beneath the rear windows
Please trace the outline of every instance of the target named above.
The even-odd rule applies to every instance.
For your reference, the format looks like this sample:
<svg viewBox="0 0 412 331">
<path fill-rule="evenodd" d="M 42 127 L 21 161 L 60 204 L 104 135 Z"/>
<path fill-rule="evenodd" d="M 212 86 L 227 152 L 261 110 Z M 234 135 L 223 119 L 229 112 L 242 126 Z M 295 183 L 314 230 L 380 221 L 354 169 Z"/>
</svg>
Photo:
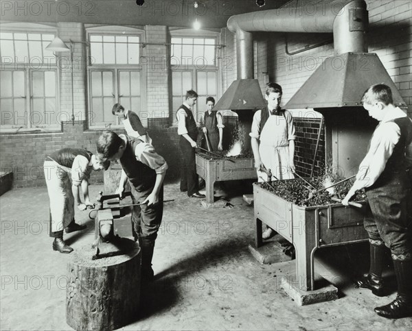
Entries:
<svg viewBox="0 0 412 331">
<path fill-rule="evenodd" d="M 236 128 L 236 117 L 224 117 L 226 129 L 223 146 L 227 149 Z M 125 134 L 124 130 L 113 130 Z M 95 152 L 95 144 L 103 130 L 87 130 L 86 121 L 62 123 L 61 132 L 0 135 L 0 171 L 14 173 L 14 187 L 44 186 L 43 162 L 45 156 L 65 147 L 78 147 Z M 165 180 L 180 178 L 180 149 L 177 127 L 170 127 L 169 119 L 148 119 L 148 132 L 156 151 L 168 162 Z M 198 136 L 201 143 L 202 135 Z M 103 182 L 103 172 L 93 171 L 91 184 Z"/>
</svg>

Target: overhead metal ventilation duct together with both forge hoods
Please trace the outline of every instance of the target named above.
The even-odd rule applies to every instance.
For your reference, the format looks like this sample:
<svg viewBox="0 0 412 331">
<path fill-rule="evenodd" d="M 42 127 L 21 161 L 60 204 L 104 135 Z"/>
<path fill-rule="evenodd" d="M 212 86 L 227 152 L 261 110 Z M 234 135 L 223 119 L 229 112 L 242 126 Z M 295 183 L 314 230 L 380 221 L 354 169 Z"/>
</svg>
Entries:
<svg viewBox="0 0 412 331">
<path fill-rule="evenodd" d="M 320 1 L 312 5 L 310 15 L 301 8 L 240 14 L 231 16 L 227 27 L 236 33 L 238 80 L 253 79 L 252 32 L 333 32 L 335 56 L 327 58 L 314 71 L 286 103 L 286 108 L 358 106 L 363 92 L 372 84 L 380 82 L 391 87 L 396 106 L 406 105 L 378 56 L 367 53 L 368 12 L 363 0 Z M 232 96 L 245 96 L 244 101 L 259 100 L 262 92 L 256 88 L 259 86 L 257 79 L 253 80 L 256 81 L 253 88 L 235 81 L 232 85 L 236 84 L 227 91 L 230 90 Z M 234 93 L 233 88 L 240 90 Z M 226 97 L 225 94 L 221 98 L 225 103 L 218 101 L 216 110 L 234 110 L 233 107 L 242 101 L 236 97 Z"/>
</svg>

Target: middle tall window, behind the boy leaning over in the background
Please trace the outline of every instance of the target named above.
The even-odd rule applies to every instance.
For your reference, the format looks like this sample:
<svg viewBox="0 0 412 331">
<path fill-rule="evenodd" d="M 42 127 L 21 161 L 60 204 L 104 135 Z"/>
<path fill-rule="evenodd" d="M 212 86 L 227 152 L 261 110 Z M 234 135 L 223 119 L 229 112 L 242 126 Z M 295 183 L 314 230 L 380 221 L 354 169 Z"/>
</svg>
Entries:
<svg viewBox="0 0 412 331">
<path fill-rule="evenodd" d="M 89 60 L 89 123 L 91 127 L 119 125 L 111 109 L 121 103 L 136 112 L 142 121 L 142 97 L 139 34 L 90 33 Z"/>
</svg>

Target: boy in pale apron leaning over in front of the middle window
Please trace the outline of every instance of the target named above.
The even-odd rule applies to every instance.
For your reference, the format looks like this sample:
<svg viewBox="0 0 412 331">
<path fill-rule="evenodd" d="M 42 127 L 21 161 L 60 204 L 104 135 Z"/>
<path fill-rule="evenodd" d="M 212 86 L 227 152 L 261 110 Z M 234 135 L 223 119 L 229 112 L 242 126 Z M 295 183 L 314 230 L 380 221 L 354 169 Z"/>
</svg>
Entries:
<svg viewBox="0 0 412 331">
<path fill-rule="evenodd" d="M 141 121 L 135 112 L 125 110 L 120 103 L 115 103 L 112 108 L 112 114 L 118 116 L 124 125 L 127 135 L 132 138 L 139 138 L 144 143 L 152 143 L 148 132 L 141 124 Z"/>
</svg>

